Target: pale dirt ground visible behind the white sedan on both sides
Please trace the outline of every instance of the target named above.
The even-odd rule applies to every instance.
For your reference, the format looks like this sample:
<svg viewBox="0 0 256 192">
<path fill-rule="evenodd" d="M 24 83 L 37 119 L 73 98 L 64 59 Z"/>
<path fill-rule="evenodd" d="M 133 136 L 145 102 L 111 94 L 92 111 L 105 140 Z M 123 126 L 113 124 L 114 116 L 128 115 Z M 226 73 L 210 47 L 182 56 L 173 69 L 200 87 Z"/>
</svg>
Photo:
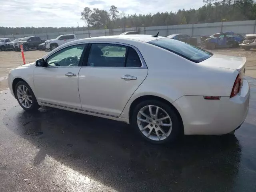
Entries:
<svg viewBox="0 0 256 192">
<path fill-rule="evenodd" d="M 246 62 L 246 75 L 256 78 L 256 50 L 244 51 L 243 49 L 226 49 L 212 51 L 218 54 L 225 54 L 230 56 L 245 56 Z M 41 58 L 47 51 L 31 50 L 24 52 L 26 62 L 34 62 L 36 59 Z M 22 64 L 22 57 L 20 52 L 0 52 L 0 91 L 8 88 L 7 76 L 8 72 Z"/>
</svg>

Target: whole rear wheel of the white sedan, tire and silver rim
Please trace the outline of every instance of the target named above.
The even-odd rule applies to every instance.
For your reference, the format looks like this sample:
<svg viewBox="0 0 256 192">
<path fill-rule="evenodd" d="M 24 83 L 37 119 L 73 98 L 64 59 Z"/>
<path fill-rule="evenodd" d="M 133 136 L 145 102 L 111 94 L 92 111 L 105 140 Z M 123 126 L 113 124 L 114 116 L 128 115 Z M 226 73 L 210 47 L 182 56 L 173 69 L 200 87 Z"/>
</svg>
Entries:
<svg viewBox="0 0 256 192">
<path fill-rule="evenodd" d="M 134 108 L 131 121 L 138 133 L 153 144 L 174 142 L 183 130 L 174 108 L 158 100 L 140 102 Z"/>
</svg>

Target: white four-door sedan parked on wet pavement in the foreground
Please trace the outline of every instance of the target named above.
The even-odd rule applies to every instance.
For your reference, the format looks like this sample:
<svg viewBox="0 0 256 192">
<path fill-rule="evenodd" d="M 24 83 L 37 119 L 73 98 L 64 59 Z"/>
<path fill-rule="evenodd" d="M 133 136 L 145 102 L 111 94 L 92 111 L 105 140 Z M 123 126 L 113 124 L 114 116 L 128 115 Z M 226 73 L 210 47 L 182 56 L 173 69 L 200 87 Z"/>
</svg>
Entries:
<svg viewBox="0 0 256 192">
<path fill-rule="evenodd" d="M 86 38 L 12 69 L 24 110 L 50 106 L 132 125 L 153 143 L 234 132 L 248 113 L 246 58 L 150 35 Z"/>
</svg>

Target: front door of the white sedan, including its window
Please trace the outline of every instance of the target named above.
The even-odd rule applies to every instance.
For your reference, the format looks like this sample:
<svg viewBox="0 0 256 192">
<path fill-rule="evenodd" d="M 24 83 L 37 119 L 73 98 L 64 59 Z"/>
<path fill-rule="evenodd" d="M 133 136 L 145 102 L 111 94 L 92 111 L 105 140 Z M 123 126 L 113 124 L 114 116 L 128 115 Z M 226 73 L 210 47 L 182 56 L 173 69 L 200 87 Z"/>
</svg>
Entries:
<svg viewBox="0 0 256 192">
<path fill-rule="evenodd" d="M 81 109 L 78 73 L 87 44 L 76 44 L 46 58 L 47 67 L 36 66 L 33 74 L 38 101 Z"/>
</svg>

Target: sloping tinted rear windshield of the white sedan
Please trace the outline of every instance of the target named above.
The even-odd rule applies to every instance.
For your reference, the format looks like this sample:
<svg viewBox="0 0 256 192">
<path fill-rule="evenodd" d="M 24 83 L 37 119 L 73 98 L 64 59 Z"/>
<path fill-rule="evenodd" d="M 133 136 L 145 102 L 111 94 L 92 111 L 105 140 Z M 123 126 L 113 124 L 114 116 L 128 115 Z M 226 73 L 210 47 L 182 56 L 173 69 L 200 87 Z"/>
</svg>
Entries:
<svg viewBox="0 0 256 192">
<path fill-rule="evenodd" d="M 206 50 L 170 38 L 156 39 L 148 43 L 166 49 L 195 63 L 199 63 L 212 56 L 212 53 Z"/>
</svg>

